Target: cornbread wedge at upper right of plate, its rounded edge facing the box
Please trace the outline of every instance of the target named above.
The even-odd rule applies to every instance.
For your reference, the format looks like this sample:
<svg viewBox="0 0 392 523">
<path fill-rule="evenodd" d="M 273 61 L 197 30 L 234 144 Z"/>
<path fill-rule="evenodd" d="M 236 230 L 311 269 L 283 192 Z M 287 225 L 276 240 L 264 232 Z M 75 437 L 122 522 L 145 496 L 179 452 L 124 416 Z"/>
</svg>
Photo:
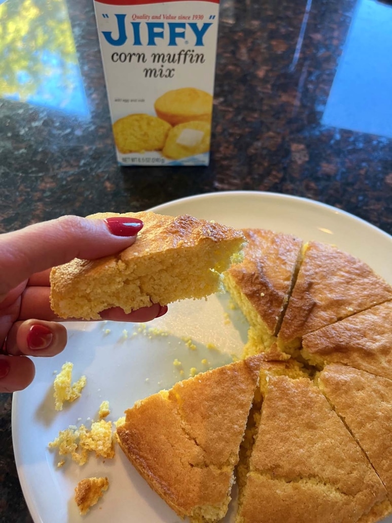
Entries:
<svg viewBox="0 0 392 523">
<path fill-rule="evenodd" d="M 279 331 L 292 352 L 304 334 L 392 299 L 392 287 L 366 265 L 332 245 L 310 242 Z"/>
</svg>

